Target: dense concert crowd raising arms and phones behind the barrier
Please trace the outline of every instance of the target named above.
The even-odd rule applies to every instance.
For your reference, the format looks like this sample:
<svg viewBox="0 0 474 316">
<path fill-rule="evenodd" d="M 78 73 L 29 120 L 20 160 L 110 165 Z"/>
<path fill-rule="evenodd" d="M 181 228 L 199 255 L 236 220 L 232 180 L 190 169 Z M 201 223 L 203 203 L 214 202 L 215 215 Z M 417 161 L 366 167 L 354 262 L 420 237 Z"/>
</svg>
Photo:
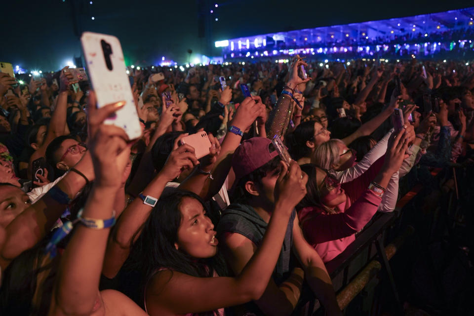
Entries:
<svg viewBox="0 0 474 316">
<path fill-rule="evenodd" d="M 104 122 L 125 102 L 97 108 L 68 67 L 0 73 L 1 314 L 290 315 L 305 289 L 341 315 L 325 263 L 401 178 L 473 161 L 474 67 L 327 65 L 134 69 L 133 140 Z"/>
</svg>

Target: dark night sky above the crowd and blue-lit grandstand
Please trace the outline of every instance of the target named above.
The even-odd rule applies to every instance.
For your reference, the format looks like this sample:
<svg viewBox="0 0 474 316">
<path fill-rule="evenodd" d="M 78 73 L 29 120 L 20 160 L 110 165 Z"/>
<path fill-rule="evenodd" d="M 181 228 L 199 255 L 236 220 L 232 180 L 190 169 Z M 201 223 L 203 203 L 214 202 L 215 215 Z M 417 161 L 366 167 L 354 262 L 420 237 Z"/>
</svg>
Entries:
<svg viewBox="0 0 474 316">
<path fill-rule="evenodd" d="M 188 62 L 188 49 L 206 52 L 206 40 L 197 37 L 196 0 L 36 0 L 2 1 L 0 61 L 28 70 L 58 70 L 80 56 L 72 4 L 80 12 L 82 31 L 118 37 L 127 64 L 150 65 L 161 56 Z M 209 1 L 212 42 L 294 29 L 315 28 L 393 17 L 403 17 L 473 6 L 473 0 L 365 0 L 365 1 Z M 217 3 L 218 8 L 214 7 Z M 288 5 L 294 3 L 294 5 Z M 390 4 L 393 3 L 393 4 Z M 209 11 L 213 9 L 214 13 Z M 92 20 L 91 17 L 95 19 Z M 215 22 L 214 18 L 219 21 Z"/>
</svg>

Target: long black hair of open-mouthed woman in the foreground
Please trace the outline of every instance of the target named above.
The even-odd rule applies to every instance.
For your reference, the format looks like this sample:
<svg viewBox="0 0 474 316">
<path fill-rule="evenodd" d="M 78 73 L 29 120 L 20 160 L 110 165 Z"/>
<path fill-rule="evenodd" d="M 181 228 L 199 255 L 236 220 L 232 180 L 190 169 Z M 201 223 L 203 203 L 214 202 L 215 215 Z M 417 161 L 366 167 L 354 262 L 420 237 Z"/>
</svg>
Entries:
<svg viewBox="0 0 474 316">
<path fill-rule="evenodd" d="M 207 210 L 201 198 L 192 192 L 173 190 L 162 195 L 140 229 L 140 237 L 132 246 L 129 264 L 134 270 L 141 272 L 143 286 L 146 286 L 148 279 L 159 268 L 169 269 L 171 273 L 176 271 L 197 277 L 213 276 L 214 271 L 219 276 L 227 276 L 221 255 L 197 259 L 174 246 L 181 225 L 180 207 L 184 197 L 196 199 L 204 210 Z"/>
</svg>

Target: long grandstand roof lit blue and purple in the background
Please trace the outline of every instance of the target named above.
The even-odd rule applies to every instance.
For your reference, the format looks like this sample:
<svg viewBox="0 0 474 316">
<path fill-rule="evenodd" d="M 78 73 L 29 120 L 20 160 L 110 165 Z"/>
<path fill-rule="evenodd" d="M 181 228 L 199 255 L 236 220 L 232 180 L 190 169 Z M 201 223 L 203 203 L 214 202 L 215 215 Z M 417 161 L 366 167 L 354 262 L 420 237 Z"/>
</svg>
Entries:
<svg viewBox="0 0 474 316">
<path fill-rule="evenodd" d="M 377 38 L 395 39 L 410 36 L 443 32 L 453 29 L 474 28 L 474 7 L 446 12 L 437 12 L 392 18 L 387 20 L 367 21 L 344 25 L 332 25 L 314 29 L 302 29 L 288 32 L 276 32 L 253 35 L 215 42 L 222 47 L 223 53 L 231 51 L 254 50 L 266 46 L 305 46 L 327 43 L 358 43 L 359 41 Z M 427 35 L 425 35 L 427 36 Z"/>
</svg>

